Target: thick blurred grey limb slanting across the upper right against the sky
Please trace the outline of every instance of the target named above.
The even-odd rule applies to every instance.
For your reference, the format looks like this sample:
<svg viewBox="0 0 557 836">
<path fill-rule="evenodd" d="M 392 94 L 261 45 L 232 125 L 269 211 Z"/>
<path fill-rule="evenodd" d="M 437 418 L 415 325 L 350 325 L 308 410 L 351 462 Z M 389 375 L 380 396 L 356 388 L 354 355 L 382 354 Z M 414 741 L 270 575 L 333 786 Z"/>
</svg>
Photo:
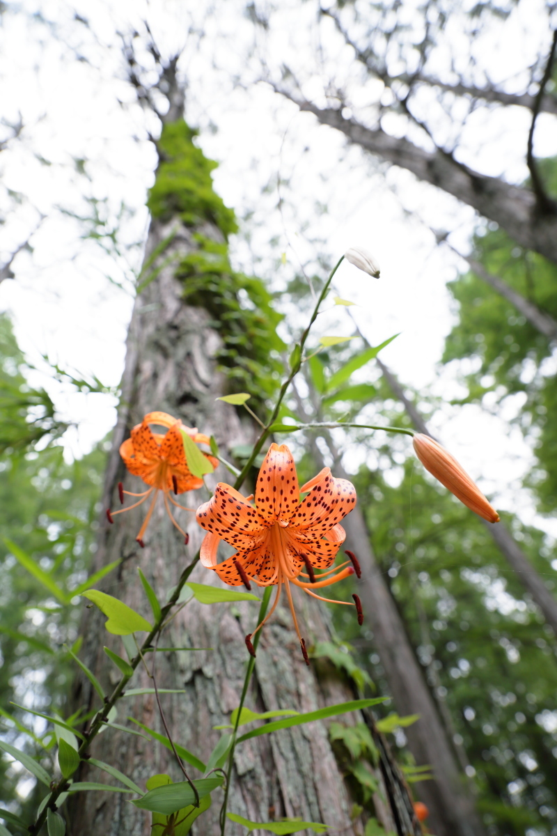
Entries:
<svg viewBox="0 0 557 836">
<path fill-rule="evenodd" d="M 523 247 L 557 263 L 557 212 L 554 209 L 540 212 L 533 191 L 479 174 L 439 148 L 423 150 L 380 128 L 371 129 L 356 120 L 344 119 L 340 110 L 292 100 L 300 110 L 314 114 L 322 125 L 340 130 L 353 145 L 360 145 L 383 160 L 412 171 L 419 180 L 447 191 L 484 217 L 499 223 Z"/>
</svg>

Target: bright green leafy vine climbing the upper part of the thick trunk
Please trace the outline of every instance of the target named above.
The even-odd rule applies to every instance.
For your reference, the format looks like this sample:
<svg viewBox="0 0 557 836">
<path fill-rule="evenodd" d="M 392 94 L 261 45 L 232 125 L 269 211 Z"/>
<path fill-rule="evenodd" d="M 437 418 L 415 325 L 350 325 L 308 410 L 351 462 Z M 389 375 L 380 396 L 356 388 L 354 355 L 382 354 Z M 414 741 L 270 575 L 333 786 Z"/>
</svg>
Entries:
<svg viewBox="0 0 557 836">
<path fill-rule="evenodd" d="M 205 308 L 210 326 L 222 339 L 217 354 L 220 370 L 230 380 L 230 391 L 247 391 L 260 402 L 281 382 L 281 350 L 276 334 L 281 321 L 272 307 L 271 293 L 259 278 L 237 273 L 230 265 L 228 237 L 238 227 L 233 210 L 213 189 L 216 167 L 194 145 L 195 130 L 184 120 L 164 125 L 157 144 L 160 165 L 147 205 L 153 217 L 180 217 L 187 227 L 210 222 L 224 241 L 195 232 L 197 249 L 180 259 L 176 276 L 184 284 L 188 304 Z"/>
</svg>

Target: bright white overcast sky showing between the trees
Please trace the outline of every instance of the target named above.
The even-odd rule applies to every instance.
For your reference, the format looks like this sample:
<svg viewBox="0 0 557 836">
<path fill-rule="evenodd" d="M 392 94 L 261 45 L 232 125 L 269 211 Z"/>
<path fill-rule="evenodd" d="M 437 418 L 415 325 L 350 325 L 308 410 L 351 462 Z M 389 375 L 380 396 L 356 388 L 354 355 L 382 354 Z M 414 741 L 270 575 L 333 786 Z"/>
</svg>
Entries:
<svg viewBox="0 0 557 836">
<path fill-rule="evenodd" d="M 81 227 L 57 207 L 84 212 L 85 192 L 106 198 L 114 216 L 124 201 L 130 209 L 124 242 L 143 240 L 148 222 L 144 199 L 153 181 L 155 156 L 145 139 L 145 115 L 123 80 L 115 32 L 139 27 L 148 17 L 158 42 L 170 53 L 185 43 L 193 14 L 195 26 L 205 28 L 205 38 L 194 33 L 187 41 L 186 116 L 190 124 L 200 126 L 205 153 L 220 162 L 217 191 L 240 217 L 253 213 L 246 227 L 251 246 L 241 237 L 233 242 L 235 262 L 281 287 L 297 268 L 298 257 L 306 262 L 315 256 L 311 241 L 316 238 L 332 261 L 347 247 L 367 247 L 381 265 L 379 281 L 347 263 L 337 274 L 342 297 L 358 305 L 351 310 L 362 332 L 372 344 L 401 332 L 382 355 L 384 362 L 401 380 L 422 388 L 426 400 L 428 392 L 447 400 L 458 394 L 455 370 L 439 370 L 438 360 L 453 322 L 445 283 L 464 265 L 434 246 L 420 217 L 433 227 L 456 230 L 452 240 L 464 251 L 473 212 L 404 171 L 391 169 L 385 176 L 381 164 L 357 149 L 347 150 L 341 136 L 316 125 L 311 115 L 300 114 L 268 85 L 232 84 L 233 74 L 250 80 L 261 72 L 256 56 L 246 69 L 244 56 L 253 30 L 241 17 L 242 3 L 215 3 L 218 13 L 210 13 L 208 3 L 196 5 L 178 0 L 82 0 L 72 5 L 23 0 L 20 8 L 26 12 L 41 10 L 45 18 L 58 22 L 66 43 L 53 38 L 42 24 L 31 23 L 23 12 L 5 17 L 0 33 L 1 115 L 15 121 L 20 111 L 25 129 L 23 142 L 1 155 L 0 171 L 5 186 L 22 192 L 26 200 L 0 229 L 0 257 L 34 227 L 38 212 L 46 216 L 33 236 L 33 256 L 21 253 L 14 265 L 16 280 L 0 284 L 0 309 L 12 313 L 28 359 L 40 365 L 41 355 L 48 354 L 62 367 L 97 375 L 106 385 L 119 383 L 133 298 L 107 276 L 126 283 L 126 274 L 129 278 L 130 269 L 140 263 L 140 248 L 128 254 L 128 263 L 125 258 L 114 262 L 81 241 Z M 74 8 L 92 22 L 95 37 L 73 23 Z M 408 0 L 410 18 L 413 8 Z M 304 44 L 314 22 L 313 3 L 281 3 L 273 34 L 259 44 L 271 69 L 284 61 L 300 74 L 309 71 L 312 53 Z M 332 32 L 324 31 L 324 37 L 331 38 L 325 46 L 334 69 L 344 74 L 354 104 L 367 104 L 381 94 L 377 88 L 358 87 L 361 76 L 352 69 L 349 51 L 336 52 Z M 447 38 L 457 58 L 459 50 L 464 54 L 467 43 L 456 16 Z M 316 43 L 315 34 L 310 40 Z M 544 48 L 549 43 L 543 3 L 523 0 L 506 23 L 489 33 L 489 51 L 485 42 L 477 51 L 484 61 L 489 55 L 488 69 L 495 81 L 512 78 L 520 89 L 524 68 L 534 61 L 539 43 Z M 90 63 L 76 60 L 76 54 L 84 54 Z M 448 54 L 439 55 L 440 71 L 448 59 Z M 327 62 L 324 66 L 327 69 Z M 320 84 L 322 89 L 320 79 L 309 79 L 306 93 L 318 97 Z M 473 115 L 462 158 L 480 171 L 521 181 L 527 173 L 528 115 L 519 109 L 498 113 L 496 118 L 487 110 Z M 154 123 L 149 125 L 155 130 Z M 398 125 L 393 120 L 390 127 L 397 130 Z M 554 118 L 540 117 L 535 140 L 537 155 L 557 154 Z M 52 165 L 44 165 L 37 155 Z M 90 161 L 89 181 L 75 173 L 73 159 L 82 157 Z M 276 211 L 277 176 L 288 181 L 284 217 Z M 261 195 L 268 185 L 270 190 Z M 328 211 L 317 214 L 317 203 L 327 204 Z M 413 214 L 405 216 L 402 207 Z M 302 231 L 305 223 L 308 227 Z M 279 243 L 270 247 L 275 236 Z M 280 265 L 283 251 L 285 266 Z M 350 329 L 349 319 L 338 319 L 335 313 L 318 322 L 316 334 L 349 334 Z M 78 424 L 64 440 L 68 455 L 88 451 L 114 424 L 114 399 L 108 395 L 78 395 L 52 380 L 45 382 L 44 375 L 37 382 L 47 385 L 63 417 Z M 505 418 L 512 417 L 513 405 L 507 413 Z M 473 406 L 445 406 L 433 416 L 432 426 L 498 507 L 550 530 L 548 521 L 535 517 L 532 502 L 519 487 L 531 454 L 518 430 Z M 557 534 L 557 525 L 552 530 Z"/>
</svg>

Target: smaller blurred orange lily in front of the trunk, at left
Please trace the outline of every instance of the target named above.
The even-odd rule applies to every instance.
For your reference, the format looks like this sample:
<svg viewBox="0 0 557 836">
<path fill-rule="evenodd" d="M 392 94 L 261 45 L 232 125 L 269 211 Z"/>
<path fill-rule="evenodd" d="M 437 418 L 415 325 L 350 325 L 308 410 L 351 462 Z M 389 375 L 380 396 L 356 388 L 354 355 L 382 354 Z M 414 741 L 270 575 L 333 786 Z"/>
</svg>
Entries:
<svg viewBox="0 0 557 836">
<path fill-rule="evenodd" d="M 166 426 L 168 431 L 164 434 L 151 431 L 149 424 L 156 426 Z M 106 512 L 109 523 L 113 522 L 112 517 L 116 514 L 130 511 L 132 508 L 142 505 L 146 499 L 153 496 L 149 510 L 144 518 L 144 523 L 139 529 L 139 533 L 135 538 L 139 545 L 143 548 L 144 533 L 149 525 L 149 519 L 154 510 L 154 505 L 162 491 L 165 502 L 166 511 L 172 521 L 172 524 L 183 534 L 185 542 L 188 542 L 188 536 L 185 531 L 176 523 L 170 502 L 178 508 L 185 511 L 195 511 L 195 508 L 186 508 L 176 502 L 170 496 L 170 491 L 175 494 L 185 493 L 186 491 L 194 491 L 195 488 L 203 485 L 203 479 L 194 476 L 188 468 L 188 463 L 185 458 L 184 441 L 182 439 L 182 431 L 185 431 L 192 441 L 200 444 L 209 444 L 209 436 L 204 436 L 189 426 L 183 426 L 179 418 L 173 418 L 166 412 L 149 412 L 145 415 L 140 424 L 134 426 L 131 431 L 131 438 L 126 439 L 120 445 L 120 456 L 124 460 L 124 465 L 128 468 L 133 476 L 139 476 L 143 479 L 146 485 L 149 485 L 149 490 L 143 493 L 132 493 L 124 491 L 122 482 L 118 483 L 120 502 L 124 503 L 124 494 L 128 497 L 141 497 L 139 502 L 134 502 L 127 508 L 121 508 L 119 511 Z M 213 467 L 219 463 L 214 456 L 209 456 L 207 453 L 203 455 L 210 461 Z"/>
</svg>

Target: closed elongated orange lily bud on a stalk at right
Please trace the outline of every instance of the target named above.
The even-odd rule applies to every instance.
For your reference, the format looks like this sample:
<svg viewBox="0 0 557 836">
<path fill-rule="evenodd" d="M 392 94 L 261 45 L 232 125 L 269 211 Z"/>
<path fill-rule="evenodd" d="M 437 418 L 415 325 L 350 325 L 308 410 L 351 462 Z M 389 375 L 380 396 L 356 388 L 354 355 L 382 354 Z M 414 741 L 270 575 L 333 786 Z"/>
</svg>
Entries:
<svg viewBox="0 0 557 836">
<path fill-rule="evenodd" d="M 447 487 L 460 502 L 463 502 L 463 505 L 479 517 L 484 517 L 484 520 L 489 523 L 499 523 L 499 514 L 494 507 L 489 504 L 476 483 L 444 447 L 422 433 L 417 433 L 413 437 L 413 446 L 425 469 Z"/>
</svg>

